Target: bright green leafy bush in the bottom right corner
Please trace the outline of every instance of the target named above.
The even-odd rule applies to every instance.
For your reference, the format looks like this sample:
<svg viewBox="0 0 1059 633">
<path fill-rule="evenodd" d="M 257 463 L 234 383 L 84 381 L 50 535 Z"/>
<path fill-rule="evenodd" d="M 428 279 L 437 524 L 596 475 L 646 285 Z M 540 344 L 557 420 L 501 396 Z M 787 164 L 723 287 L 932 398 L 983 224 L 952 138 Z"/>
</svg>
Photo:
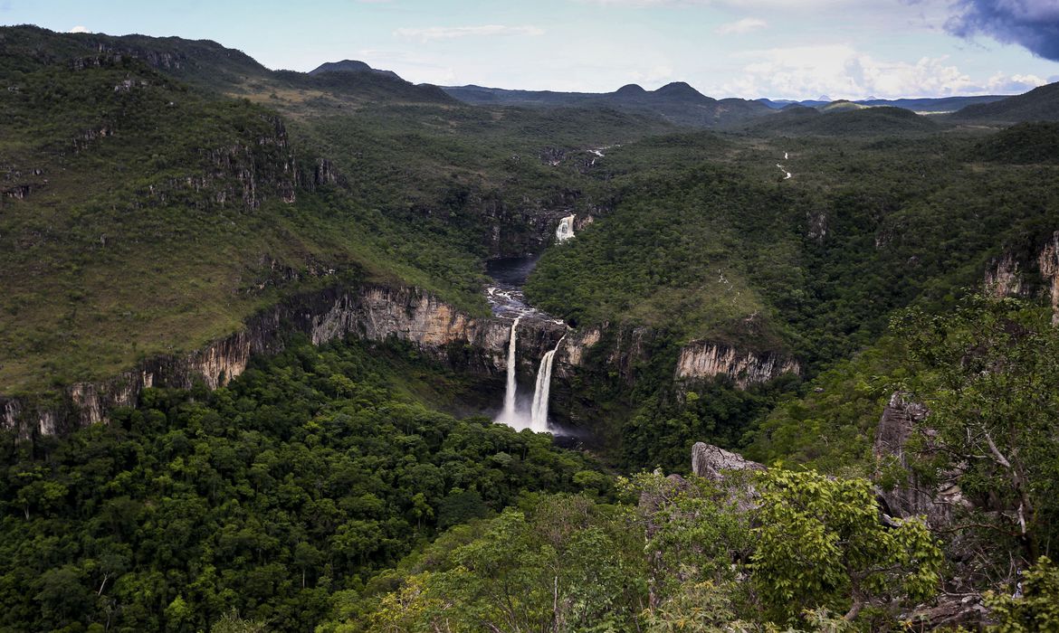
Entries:
<svg viewBox="0 0 1059 633">
<path fill-rule="evenodd" d="M 989 592 L 986 605 L 997 622 L 989 631 L 1055 631 L 1059 629 L 1059 569 L 1042 556 L 1023 573 L 1018 596 Z"/>
</svg>

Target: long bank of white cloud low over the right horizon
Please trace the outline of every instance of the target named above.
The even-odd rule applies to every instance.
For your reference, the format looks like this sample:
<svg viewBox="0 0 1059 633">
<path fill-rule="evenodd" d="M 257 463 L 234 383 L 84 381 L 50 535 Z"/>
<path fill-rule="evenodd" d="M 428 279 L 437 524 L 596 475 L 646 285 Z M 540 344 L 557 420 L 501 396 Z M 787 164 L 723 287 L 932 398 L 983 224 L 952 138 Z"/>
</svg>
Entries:
<svg viewBox="0 0 1059 633">
<path fill-rule="evenodd" d="M 738 78 L 718 92 L 753 98 L 900 98 L 1024 92 L 1044 84 L 1036 75 L 998 73 L 973 79 L 943 57 L 911 64 L 877 59 L 849 44 L 821 44 L 751 51 Z"/>
</svg>

